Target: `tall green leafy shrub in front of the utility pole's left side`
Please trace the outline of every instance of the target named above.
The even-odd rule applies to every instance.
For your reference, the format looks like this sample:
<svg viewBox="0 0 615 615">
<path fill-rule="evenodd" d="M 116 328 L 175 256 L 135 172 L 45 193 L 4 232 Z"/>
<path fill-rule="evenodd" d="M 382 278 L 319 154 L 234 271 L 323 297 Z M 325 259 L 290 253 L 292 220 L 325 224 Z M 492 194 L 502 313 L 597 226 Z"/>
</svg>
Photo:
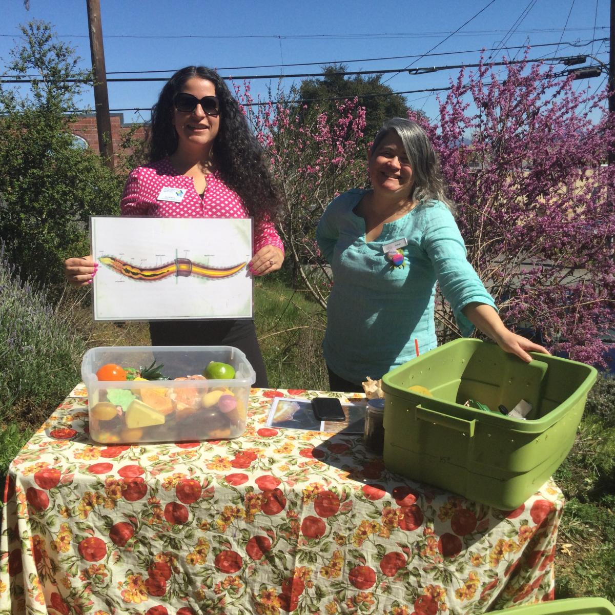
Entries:
<svg viewBox="0 0 615 615">
<path fill-rule="evenodd" d="M 25 96 L 0 85 L 0 239 L 10 263 L 51 297 L 64 282 L 63 261 L 89 252 L 89 215 L 119 213 L 123 181 L 74 145 L 73 109 L 90 79 L 77 70 L 74 49 L 47 23 L 21 30 L 7 70 L 41 82 Z"/>
</svg>

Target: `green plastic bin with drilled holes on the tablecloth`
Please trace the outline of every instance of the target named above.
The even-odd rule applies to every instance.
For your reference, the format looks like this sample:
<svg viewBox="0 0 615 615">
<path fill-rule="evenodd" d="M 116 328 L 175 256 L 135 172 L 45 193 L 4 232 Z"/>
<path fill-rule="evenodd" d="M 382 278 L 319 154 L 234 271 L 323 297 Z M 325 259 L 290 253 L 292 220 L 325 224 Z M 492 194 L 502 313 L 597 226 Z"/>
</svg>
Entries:
<svg viewBox="0 0 615 615">
<path fill-rule="evenodd" d="M 596 370 L 456 339 L 383 376 L 384 464 L 413 480 L 504 510 L 555 472 L 574 442 Z M 422 386 L 432 396 L 408 391 Z M 488 411 L 464 406 L 476 400 Z M 503 415 L 525 400 L 526 419 Z"/>
</svg>

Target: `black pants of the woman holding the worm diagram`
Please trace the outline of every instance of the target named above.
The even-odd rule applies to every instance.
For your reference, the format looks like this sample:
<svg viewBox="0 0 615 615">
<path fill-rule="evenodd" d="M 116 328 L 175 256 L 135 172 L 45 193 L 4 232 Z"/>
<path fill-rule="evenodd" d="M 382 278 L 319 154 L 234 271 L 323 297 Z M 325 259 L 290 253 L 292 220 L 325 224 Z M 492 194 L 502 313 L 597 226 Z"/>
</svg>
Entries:
<svg viewBox="0 0 615 615">
<path fill-rule="evenodd" d="M 149 323 L 152 346 L 234 346 L 256 372 L 254 386 L 269 386 L 254 321 L 242 320 L 180 320 Z"/>
</svg>

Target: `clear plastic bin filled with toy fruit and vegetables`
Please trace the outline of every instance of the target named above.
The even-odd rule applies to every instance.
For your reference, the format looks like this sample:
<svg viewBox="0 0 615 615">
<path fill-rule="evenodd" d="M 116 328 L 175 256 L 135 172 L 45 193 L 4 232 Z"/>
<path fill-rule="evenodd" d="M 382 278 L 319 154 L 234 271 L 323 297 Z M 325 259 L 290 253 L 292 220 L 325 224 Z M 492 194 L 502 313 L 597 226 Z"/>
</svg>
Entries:
<svg viewBox="0 0 615 615">
<path fill-rule="evenodd" d="M 233 378 L 204 378 L 210 362 L 231 365 Z M 99 380 L 109 363 L 140 372 L 152 363 L 165 380 Z M 90 435 L 101 443 L 181 442 L 236 438 L 244 433 L 256 379 L 232 346 L 117 346 L 85 352 Z"/>
</svg>

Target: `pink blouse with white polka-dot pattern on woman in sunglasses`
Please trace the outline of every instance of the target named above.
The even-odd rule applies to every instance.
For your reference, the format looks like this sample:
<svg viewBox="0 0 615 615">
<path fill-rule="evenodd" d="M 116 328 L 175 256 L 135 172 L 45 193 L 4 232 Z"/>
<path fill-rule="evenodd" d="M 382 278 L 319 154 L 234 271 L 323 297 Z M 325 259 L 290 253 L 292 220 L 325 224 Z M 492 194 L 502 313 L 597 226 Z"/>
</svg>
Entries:
<svg viewBox="0 0 615 615">
<path fill-rule="evenodd" d="M 158 200 L 162 188 L 186 190 L 180 203 Z M 191 177 L 179 175 L 168 158 L 133 169 L 124 186 L 122 216 L 156 218 L 249 218 L 237 192 L 229 188 L 217 171 L 207 176 L 203 197 L 194 189 Z M 284 245 L 274 224 L 255 221 L 254 253 L 265 245 L 274 245 L 284 252 Z"/>
</svg>

